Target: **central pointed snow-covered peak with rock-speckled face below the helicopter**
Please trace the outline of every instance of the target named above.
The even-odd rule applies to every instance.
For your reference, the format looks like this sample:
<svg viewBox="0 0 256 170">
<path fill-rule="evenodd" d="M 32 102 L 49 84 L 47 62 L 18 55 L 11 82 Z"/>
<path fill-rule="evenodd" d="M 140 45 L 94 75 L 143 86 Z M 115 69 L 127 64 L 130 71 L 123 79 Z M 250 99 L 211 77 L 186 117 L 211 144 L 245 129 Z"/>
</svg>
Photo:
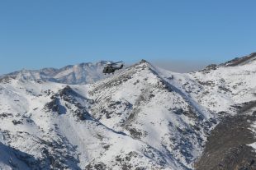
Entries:
<svg viewBox="0 0 256 170">
<path fill-rule="evenodd" d="M 142 62 L 89 85 L 88 94 L 95 101 L 91 114 L 102 124 L 159 150 L 163 168 L 187 169 L 216 122 L 214 114 L 175 87 L 176 75 Z"/>
</svg>

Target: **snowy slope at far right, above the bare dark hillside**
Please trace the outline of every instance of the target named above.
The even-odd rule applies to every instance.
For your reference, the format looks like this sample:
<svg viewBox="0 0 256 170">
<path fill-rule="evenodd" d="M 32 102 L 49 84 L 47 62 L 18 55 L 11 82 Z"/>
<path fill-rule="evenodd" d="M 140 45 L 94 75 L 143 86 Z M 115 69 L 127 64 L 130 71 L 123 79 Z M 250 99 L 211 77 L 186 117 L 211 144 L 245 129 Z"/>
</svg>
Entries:
<svg viewBox="0 0 256 170">
<path fill-rule="evenodd" d="M 201 90 L 191 90 L 192 85 L 187 84 L 187 80 L 183 80 L 183 88 L 192 96 L 197 96 L 197 102 L 211 111 L 235 113 L 235 106 L 256 100 L 256 56 L 252 53 L 236 59 L 241 60 L 244 64 L 235 64 L 231 60 L 226 63 L 233 63 L 232 67 L 221 64 L 211 69 L 188 73 L 187 76 L 200 85 Z"/>
</svg>

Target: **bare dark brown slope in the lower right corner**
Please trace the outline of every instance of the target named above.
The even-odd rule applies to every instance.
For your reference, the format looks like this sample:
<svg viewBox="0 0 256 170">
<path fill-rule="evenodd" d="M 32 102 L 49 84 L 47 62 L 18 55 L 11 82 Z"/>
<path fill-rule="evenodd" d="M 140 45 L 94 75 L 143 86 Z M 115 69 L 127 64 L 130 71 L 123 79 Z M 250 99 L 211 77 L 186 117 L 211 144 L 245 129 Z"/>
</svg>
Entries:
<svg viewBox="0 0 256 170">
<path fill-rule="evenodd" d="M 195 164 L 195 168 L 197 170 L 256 169 L 256 152 L 249 146 L 256 142 L 254 132 L 250 130 L 250 122 L 255 121 L 254 115 L 244 113 L 225 117 L 211 131 L 204 153 Z"/>
</svg>

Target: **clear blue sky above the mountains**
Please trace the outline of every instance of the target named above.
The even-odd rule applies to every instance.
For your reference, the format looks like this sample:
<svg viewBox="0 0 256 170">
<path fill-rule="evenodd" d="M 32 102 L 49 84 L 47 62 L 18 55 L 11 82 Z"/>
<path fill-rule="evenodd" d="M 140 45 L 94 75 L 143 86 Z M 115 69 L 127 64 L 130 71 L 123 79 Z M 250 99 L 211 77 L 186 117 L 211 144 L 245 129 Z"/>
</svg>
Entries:
<svg viewBox="0 0 256 170">
<path fill-rule="evenodd" d="M 1 0 L 0 74 L 99 60 L 225 62 L 256 51 L 254 0 Z"/>
</svg>

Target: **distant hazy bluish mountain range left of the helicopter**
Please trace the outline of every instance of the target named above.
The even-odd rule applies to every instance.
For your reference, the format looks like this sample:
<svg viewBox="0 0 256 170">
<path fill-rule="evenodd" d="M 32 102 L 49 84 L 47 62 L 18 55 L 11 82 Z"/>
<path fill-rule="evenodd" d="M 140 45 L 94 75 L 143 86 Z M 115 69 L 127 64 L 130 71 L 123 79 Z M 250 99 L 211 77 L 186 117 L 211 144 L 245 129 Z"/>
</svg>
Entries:
<svg viewBox="0 0 256 170">
<path fill-rule="evenodd" d="M 81 63 L 70 65 L 60 69 L 44 68 L 41 70 L 30 71 L 22 70 L 0 76 L 0 79 L 6 77 L 16 78 L 17 80 L 49 80 L 69 85 L 88 84 L 101 80 L 107 76 L 102 74 L 105 61 L 92 63 Z"/>
</svg>

